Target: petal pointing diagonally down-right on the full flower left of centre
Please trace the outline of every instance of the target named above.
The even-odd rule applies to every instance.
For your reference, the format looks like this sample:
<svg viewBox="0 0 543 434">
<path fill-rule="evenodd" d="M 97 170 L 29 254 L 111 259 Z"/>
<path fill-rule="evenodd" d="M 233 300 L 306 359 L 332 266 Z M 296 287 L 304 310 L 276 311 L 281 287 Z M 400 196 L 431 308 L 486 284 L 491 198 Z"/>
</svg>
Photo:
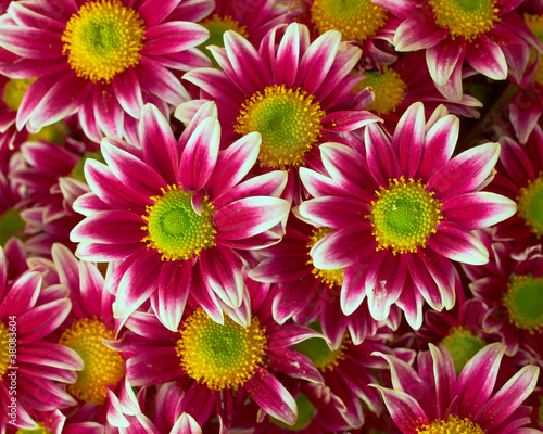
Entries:
<svg viewBox="0 0 543 434">
<path fill-rule="evenodd" d="M 203 281 L 229 307 L 241 306 L 243 295 L 243 263 L 229 248 L 217 245 L 202 251 L 200 265 Z"/>
</svg>

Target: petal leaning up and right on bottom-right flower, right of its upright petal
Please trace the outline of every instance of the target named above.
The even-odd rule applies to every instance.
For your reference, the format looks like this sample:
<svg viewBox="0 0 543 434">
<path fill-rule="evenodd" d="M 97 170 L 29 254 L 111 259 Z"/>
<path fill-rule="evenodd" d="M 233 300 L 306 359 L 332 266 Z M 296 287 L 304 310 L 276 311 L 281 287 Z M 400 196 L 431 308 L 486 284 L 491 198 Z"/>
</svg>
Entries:
<svg viewBox="0 0 543 434">
<path fill-rule="evenodd" d="M 505 349 L 505 345 L 501 343 L 487 345 L 469 359 L 462 370 L 456 388 L 460 418 L 477 414 L 487 404 L 494 390 Z"/>
</svg>

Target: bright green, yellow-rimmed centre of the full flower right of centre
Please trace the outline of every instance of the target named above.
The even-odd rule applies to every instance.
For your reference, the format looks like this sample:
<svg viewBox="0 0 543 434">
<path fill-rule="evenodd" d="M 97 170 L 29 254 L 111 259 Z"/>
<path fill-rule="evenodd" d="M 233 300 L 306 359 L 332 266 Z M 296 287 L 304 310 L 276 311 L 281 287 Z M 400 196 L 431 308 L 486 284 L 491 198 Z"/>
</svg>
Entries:
<svg viewBox="0 0 543 434">
<path fill-rule="evenodd" d="M 377 250 L 392 247 L 394 253 L 416 252 L 426 247 L 426 240 L 435 232 L 435 225 L 443 217 L 442 204 L 427 192 L 420 180 L 389 180 L 389 189 L 376 191 L 368 216 L 375 230 Z"/>
</svg>

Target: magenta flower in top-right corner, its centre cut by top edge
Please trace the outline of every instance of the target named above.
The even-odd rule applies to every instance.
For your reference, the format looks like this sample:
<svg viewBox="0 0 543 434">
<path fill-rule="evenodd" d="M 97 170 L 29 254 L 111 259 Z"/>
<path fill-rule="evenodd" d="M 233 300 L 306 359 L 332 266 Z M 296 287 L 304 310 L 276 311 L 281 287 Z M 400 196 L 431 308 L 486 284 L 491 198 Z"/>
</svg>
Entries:
<svg viewBox="0 0 543 434">
<path fill-rule="evenodd" d="M 543 46 L 515 12 L 520 0 L 374 0 L 402 24 L 394 35 L 397 51 L 426 50 L 430 75 L 447 98 L 462 99 L 462 66 L 494 80 L 520 77 L 530 47 Z"/>
</svg>

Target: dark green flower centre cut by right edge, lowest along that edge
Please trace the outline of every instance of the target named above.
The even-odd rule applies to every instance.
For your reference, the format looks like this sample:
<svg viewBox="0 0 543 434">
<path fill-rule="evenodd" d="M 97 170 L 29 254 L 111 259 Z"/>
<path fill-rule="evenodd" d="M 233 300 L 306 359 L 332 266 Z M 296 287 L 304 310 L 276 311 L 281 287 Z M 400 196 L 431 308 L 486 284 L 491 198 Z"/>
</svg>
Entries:
<svg viewBox="0 0 543 434">
<path fill-rule="evenodd" d="M 503 302 L 509 321 L 530 333 L 543 331 L 543 278 L 512 276 Z"/>
</svg>

